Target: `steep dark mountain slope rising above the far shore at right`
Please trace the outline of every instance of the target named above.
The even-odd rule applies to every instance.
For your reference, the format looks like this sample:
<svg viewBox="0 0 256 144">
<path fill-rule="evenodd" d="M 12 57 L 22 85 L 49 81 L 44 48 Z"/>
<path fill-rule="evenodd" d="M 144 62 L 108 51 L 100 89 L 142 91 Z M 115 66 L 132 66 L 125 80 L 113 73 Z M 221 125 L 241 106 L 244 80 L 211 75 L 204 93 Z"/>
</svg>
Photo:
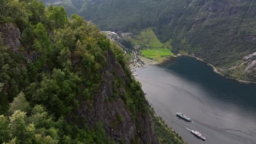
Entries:
<svg viewBox="0 0 256 144">
<path fill-rule="evenodd" d="M 256 51 L 255 7 L 255 1 L 193 1 L 177 25 L 164 26 L 165 34 L 171 34 L 176 52 L 194 54 L 228 76 L 255 81 L 256 65 L 246 69 L 248 60 L 239 69 L 228 69 Z"/>
</svg>

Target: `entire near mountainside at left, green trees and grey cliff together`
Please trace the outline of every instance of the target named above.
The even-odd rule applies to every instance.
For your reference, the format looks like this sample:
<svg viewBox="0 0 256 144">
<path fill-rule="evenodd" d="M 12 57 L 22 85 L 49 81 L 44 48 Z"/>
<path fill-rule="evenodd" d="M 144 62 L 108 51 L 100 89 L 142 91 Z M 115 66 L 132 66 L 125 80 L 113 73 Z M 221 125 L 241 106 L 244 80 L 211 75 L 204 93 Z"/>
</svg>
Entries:
<svg viewBox="0 0 256 144">
<path fill-rule="evenodd" d="M 123 50 L 93 23 L 37 0 L 0 5 L 0 143 L 158 143 Z"/>
</svg>

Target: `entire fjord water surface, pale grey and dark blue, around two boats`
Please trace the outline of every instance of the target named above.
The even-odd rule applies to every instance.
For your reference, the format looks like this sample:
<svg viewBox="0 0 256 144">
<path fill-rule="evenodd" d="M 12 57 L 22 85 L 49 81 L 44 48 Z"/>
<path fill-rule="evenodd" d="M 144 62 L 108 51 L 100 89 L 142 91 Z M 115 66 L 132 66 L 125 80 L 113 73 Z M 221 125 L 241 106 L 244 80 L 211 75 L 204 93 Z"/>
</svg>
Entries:
<svg viewBox="0 0 256 144">
<path fill-rule="evenodd" d="M 256 85 L 225 79 L 190 57 L 137 73 L 155 112 L 187 143 L 256 143 Z M 193 122 L 178 118 L 176 112 Z M 202 133 L 206 141 L 189 129 Z"/>
</svg>

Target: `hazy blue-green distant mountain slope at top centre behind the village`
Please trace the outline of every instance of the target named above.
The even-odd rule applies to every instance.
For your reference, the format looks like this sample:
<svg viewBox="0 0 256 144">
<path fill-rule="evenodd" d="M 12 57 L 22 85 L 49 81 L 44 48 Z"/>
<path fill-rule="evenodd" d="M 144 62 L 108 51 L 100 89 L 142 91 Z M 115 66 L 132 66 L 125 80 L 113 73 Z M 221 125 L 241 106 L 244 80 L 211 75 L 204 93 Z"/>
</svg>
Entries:
<svg viewBox="0 0 256 144">
<path fill-rule="evenodd" d="M 103 30 L 133 33 L 170 21 L 168 17 L 182 13 L 182 8 L 187 5 L 186 1 L 167 0 L 44 0 L 43 2 L 48 5 L 63 5 L 68 15 L 77 13 L 86 20 L 92 20 Z"/>
</svg>

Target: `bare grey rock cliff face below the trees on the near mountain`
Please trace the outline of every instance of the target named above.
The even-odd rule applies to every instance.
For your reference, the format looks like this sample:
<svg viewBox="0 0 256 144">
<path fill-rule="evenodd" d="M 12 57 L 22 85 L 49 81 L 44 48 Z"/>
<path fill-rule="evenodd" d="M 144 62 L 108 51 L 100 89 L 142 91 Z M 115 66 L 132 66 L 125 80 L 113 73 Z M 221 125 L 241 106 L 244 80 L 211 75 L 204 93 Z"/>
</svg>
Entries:
<svg viewBox="0 0 256 144">
<path fill-rule="evenodd" d="M 131 111 L 125 106 L 121 99 L 111 100 L 106 102 L 107 99 L 113 95 L 113 83 L 115 77 L 120 78 L 124 83 L 129 79 L 116 61 L 114 54 L 108 50 L 107 66 L 103 72 L 103 82 L 95 94 L 94 103 L 88 109 L 87 104 L 79 107 L 78 113 L 81 119 L 86 119 L 86 123 L 93 125 L 95 122 L 101 122 L 106 130 L 107 135 L 111 139 L 131 143 L 158 143 L 157 137 L 154 132 L 153 121 L 148 115 L 137 114 L 136 120 L 132 118 Z M 126 87 L 130 87 L 126 85 Z M 119 87 L 120 94 L 125 94 L 125 89 Z M 147 101 L 144 101 L 147 103 Z M 119 115 L 122 117 L 119 119 Z M 139 124 L 139 128 L 138 125 Z"/>
</svg>

